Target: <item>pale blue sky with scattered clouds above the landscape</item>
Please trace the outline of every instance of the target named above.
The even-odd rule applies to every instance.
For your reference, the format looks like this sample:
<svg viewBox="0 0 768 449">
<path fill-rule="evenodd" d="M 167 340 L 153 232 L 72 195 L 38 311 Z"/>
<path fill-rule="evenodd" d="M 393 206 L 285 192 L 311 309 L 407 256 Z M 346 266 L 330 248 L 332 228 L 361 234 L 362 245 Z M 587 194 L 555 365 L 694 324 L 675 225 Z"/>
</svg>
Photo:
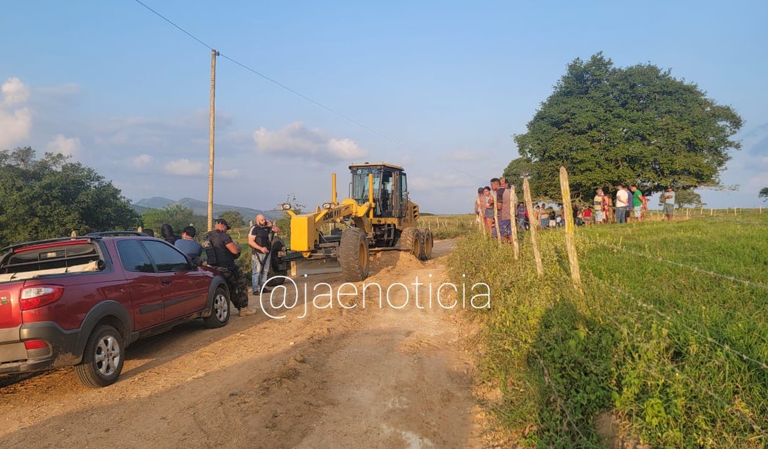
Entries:
<svg viewBox="0 0 768 449">
<path fill-rule="evenodd" d="M 422 211 L 470 211 L 567 64 L 598 51 L 743 118 L 722 174 L 739 189 L 700 190 L 708 206 L 754 207 L 768 186 L 768 2 L 142 1 L 220 51 L 220 204 L 313 207 L 331 172 L 343 195 L 349 163 L 384 161 Z M 134 202 L 207 199 L 209 48 L 135 0 L 2 11 L 0 149 L 71 155 Z"/>
</svg>

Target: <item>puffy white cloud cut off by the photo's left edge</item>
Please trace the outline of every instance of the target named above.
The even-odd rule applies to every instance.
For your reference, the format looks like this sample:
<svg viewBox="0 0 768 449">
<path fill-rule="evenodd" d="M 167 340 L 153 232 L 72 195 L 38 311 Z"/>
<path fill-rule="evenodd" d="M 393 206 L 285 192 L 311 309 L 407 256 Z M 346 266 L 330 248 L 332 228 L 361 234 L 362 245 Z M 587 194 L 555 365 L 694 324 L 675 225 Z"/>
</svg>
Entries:
<svg viewBox="0 0 768 449">
<path fill-rule="evenodd" d="M 0 149 L 8 149 L 28 138 L 32 129 L 31 110 L 22 107 L 29 98 L 29 87 L 18 78 L 10 78 L 0 90 Z"/>
</svg>

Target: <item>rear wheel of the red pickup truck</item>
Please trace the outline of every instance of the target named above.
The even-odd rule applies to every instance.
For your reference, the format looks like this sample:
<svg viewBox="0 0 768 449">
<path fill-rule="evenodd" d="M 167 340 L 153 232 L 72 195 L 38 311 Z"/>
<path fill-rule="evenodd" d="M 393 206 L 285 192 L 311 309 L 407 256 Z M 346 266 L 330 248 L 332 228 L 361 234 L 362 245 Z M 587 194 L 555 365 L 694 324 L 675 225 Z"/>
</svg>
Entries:
<svg viewBox="0 0 768 449">
<path fill-rule="evenodd" d="M 123 336 L 118 329 L 102 324 L 88 336 L 83 360 L 74 367 L 83 385 L 98 388 L 118 380 L 125 359 Z"/>
</svg>

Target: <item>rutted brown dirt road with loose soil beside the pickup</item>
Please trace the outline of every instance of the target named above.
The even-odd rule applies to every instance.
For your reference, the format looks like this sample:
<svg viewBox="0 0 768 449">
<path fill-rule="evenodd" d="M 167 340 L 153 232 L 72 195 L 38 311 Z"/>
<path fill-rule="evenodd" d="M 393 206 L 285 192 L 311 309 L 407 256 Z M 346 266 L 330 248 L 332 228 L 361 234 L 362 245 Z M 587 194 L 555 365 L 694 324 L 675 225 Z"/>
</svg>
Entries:
<svg viewBox="0 0 768 449">
<path fill-rule="evenodd" d="M 366 282 L 439 285 L 439 256 L 451 246 L 436 242 L 426 263 L 380 254 Z M 347 297 L 354 309 L 318 310 L 312 285 L 321 281 L 334 293 L 342 283 L 312 279 L 304 318 L 303 306 L 266 306 L 286 318 L 188 323 L 137 342 L 107 388 L 82 387 L 71 369 L 0 388 L 0 447 L 482 446 L 457 312 L 419 309 L 413 291 L 402 309 L 385 301 L 363 310 Z M 390 297 L 401 306 L 406 292 Z"/>
</svg>

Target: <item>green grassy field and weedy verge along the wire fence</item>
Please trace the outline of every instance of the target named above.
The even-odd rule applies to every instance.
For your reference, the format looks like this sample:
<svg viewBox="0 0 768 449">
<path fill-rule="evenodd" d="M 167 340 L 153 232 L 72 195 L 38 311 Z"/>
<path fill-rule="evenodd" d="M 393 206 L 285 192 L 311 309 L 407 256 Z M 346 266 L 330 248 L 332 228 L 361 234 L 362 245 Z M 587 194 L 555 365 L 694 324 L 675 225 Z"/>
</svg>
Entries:
<svg viewBox="0 0 768 449">
<path fill-rule="evenodd" d="M 496 415 L 528 446 L 607 444 L 605 418 L 651 447 L 768 445 L 768 213 L 576 231 L 584 294 L 561 229 L 511 247 L 472 234 L 449 266 L 492 289 L 480 312 Z"/>
</svg>

